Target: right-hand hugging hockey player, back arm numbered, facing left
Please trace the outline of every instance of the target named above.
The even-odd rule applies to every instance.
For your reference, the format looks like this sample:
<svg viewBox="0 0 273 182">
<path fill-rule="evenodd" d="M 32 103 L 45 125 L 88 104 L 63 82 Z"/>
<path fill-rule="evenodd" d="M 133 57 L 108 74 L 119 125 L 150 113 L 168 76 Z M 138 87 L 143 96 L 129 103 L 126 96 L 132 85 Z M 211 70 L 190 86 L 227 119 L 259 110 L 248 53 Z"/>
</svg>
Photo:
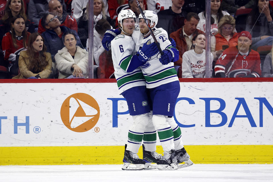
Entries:
<svg viewBox="0 0 273 182">
<path fill-rule="evenodd" d="M 150 27 L 163 50 L 163 55 L 154 55 L 146 64 L 141 66 L 142 73 L 146 80 L 153 105 L 152 121 L 158 131 L 158 136 L 164 150 L 164 156 L 157 164 L 159 169 L 177 169 L 178 167 L 191 166 L 181 139 L 181 129 L 173 119 L 173 111 L 177 96 L 180 91 L 180 84 L 173 62 L 178 60 L 179 51 L 171 46 L 167 39 L 167 32 L 162 28 L 155 28 L 158 17 L 154 11 L 144 11 L 147 20 L 150 20 Z M 142 15 L 138 17 L 139 29 L 133 33 L 133 40 L 136 49 L 141 49 L 147 40 L 154 42 L 148 26 Z M 158 59 L 158 57 L 160 57 Z"/>
</svg>

